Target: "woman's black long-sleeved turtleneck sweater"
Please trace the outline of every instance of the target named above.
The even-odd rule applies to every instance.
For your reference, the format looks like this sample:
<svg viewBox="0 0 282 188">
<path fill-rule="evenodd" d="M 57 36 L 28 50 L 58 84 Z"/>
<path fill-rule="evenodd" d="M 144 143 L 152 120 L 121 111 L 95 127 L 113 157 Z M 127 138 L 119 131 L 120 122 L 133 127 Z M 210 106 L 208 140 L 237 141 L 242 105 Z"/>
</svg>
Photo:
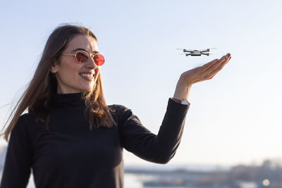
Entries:
<svg viewBox="0 0 282 188">
<path fill-rule="evenodd" d="M 33 113 L 11 132 L 0 188 L 26 187 L 32 170 L 37 188 L 123 187 L 123 148 L 154 163 L 175 155 L 189 106 L 168 99 L 157 135 L 125 106 L 111 105 L 117 125 L 90 130 L 80 94 L 57 94 L 49 130 Z"/>
</svg>

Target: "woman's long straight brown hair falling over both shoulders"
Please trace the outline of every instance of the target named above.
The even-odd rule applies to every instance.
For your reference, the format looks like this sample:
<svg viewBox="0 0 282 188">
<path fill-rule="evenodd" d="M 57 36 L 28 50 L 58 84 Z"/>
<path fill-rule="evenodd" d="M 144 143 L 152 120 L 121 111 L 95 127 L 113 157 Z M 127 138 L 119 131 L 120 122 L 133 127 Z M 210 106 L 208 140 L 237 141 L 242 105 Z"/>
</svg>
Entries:
<svg viewBox="0 0 282 188">
<path fill-rule="evenodd" d="M 56 77 L 53 73 L 50 73 L 51 65 L 61 56 L 62 51 L 66 49 L 68 42 L 75 35 L 88 35 L 97 41 L 97 37 L 93 32 L 85 27 L 77 25 L 56 27 L 47 40 L 42 58 L 35 70 L 35 75 L 6 121 L 6 124 L 9 122 L 9 125 L 4 133 L 1 133 L 1 136 L 4 134 L 4 139 L 7 142 L 8 136 L 16 125 L 18 118 L 26 109 L 28 109 L 28 112 L 34 113 L 36 120 L 44 122 L 45 128 L 49 129 L 50 103 L 54 94 L 56 94 L 57 88 Z M 87 111 L 90 111 L 90 130 L 93 127 L 113 127 L 115 122 L 111 116 L 111 108 L 106 105 L 104 99 L 101 74 L 98 75 L 92 91 L 83 92 L 82 97 L 85 99 Z"/>
</svg>

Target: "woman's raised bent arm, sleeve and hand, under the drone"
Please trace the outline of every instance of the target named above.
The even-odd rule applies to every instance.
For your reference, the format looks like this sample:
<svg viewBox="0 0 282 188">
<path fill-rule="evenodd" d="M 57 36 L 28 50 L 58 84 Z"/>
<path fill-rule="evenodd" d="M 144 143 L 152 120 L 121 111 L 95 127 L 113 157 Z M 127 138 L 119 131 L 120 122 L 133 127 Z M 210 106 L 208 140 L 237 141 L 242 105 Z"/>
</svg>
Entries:
<svg viewBox="0 0 282 188">
<path fill-rule="evenodd" d="M 179 100 L 188 99 L 192 84 L 212 79 L 230 58 L 231 54 L 226 54 L 180 76 L 173 99 L 168 99 L 166 114 L 157 135 L 147 130 L 132 111 L 121 106 L 118 119 L 124 148 L 147 161 L 168 163 L 180 144 L 185 115 L 190 106 L 179 104 Z"/>
</svg>

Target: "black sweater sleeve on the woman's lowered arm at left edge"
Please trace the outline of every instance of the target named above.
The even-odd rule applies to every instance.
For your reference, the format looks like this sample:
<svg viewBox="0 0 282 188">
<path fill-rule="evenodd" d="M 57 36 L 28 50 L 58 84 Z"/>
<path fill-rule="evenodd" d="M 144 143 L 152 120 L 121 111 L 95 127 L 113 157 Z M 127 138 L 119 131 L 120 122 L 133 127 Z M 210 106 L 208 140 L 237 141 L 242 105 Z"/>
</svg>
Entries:
<svg viewBox="0 0 282 188">
<path fill-rule="evenodd" d="M 25 188 L 30 178 L 30 146 L 24 118 L 11 131 L 0 188 Z"/>
</svg>

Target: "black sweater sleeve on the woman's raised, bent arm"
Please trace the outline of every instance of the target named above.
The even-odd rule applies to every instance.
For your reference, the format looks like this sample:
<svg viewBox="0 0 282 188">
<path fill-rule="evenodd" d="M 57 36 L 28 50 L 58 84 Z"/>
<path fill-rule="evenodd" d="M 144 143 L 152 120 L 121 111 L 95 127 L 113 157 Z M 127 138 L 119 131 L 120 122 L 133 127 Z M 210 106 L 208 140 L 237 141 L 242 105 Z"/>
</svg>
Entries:
<svg viewBox="0 0 282 188">
<path fill-rule="evenodd" d="M 156 135 L 147 130 L 130 109 L 123 106 L 120 125 L 123 147 L 147 161 L 168 163 L 180 144 L 189 107 L 190 104 L 178 104 L 168 99 L 164 120 Z"/>
</svg>

